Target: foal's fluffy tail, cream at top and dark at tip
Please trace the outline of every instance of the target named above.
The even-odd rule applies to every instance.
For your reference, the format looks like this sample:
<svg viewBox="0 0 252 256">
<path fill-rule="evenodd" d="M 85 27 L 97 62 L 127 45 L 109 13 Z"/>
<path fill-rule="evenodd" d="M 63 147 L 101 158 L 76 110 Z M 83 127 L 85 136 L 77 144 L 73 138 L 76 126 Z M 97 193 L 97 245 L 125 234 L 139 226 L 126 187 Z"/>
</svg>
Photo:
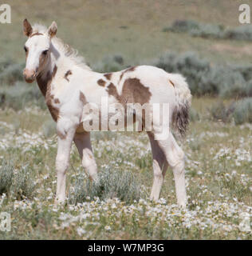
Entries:
<svg viewBox="0 0 252 256">
<path fill-rule="evenodd" d="M 181 137 L 186 134 L 189 124 L 191 91 L 186 79 L 180 74 L 169 74 L 175 87 L 175 108 L 172 113 L 172 127 Z"/>
</svg>

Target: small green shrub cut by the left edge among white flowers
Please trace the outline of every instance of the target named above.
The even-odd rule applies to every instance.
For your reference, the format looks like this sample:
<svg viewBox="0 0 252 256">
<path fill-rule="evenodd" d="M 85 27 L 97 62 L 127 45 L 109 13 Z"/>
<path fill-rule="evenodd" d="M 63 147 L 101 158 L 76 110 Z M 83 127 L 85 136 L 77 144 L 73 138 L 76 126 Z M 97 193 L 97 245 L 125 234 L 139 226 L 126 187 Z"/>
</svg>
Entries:
<svg viewBox="0 0 252 256">
<path fill-rule="evenodd" d="M 14 166 L 10 162 L 1 162 L 0 166 L 0 194 L 10 194 L 10 186 L 14 174 Z"/>
</svg>

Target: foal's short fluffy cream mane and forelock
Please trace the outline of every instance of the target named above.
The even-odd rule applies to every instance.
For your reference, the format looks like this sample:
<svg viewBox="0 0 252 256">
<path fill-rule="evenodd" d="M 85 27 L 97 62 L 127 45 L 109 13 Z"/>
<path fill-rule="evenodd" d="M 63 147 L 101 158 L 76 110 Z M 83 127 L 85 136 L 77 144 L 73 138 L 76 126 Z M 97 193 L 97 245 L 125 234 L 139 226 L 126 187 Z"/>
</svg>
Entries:
<svg viewBox="0 0 252 256">
<path fill-rule="evenodd" d="M 47 27 L 41 24 L 33 25 L 33 34 L 41 33 L 45 34 L 47 32 Z M 61 54 L 64 54 L 66 58 L 70 61 L 74 62 L 77 66 L 81 66 L 85 70 L 91 70 L 91 68 L 85 63 L 85 58 L 78 55 L 78 51 L 73 49 L 72 46 L 69 46 L 61 38 L 57 38 L 54 36 L 52 38 L 53 45 L 57 47 L 57 50 L 60 51 Z"/>
</svg>

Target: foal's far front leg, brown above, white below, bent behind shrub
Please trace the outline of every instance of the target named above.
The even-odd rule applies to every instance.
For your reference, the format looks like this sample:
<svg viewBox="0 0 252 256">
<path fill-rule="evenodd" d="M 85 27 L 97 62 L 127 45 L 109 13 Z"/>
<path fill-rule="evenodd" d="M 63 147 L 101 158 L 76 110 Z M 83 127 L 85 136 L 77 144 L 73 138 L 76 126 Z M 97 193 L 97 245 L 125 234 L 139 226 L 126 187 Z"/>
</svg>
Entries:
<svg viewBox="0 0 252 256">
<path fill-rule="evenodd" d="M 73 141 L 79 151 L 82 160 L 82 166 L 85 168 L 89 178 L 96 181 L 97 166 L 90 141 L 90 133 L 85 132 L 81 134 L 75 134 Z"/>
</svg>

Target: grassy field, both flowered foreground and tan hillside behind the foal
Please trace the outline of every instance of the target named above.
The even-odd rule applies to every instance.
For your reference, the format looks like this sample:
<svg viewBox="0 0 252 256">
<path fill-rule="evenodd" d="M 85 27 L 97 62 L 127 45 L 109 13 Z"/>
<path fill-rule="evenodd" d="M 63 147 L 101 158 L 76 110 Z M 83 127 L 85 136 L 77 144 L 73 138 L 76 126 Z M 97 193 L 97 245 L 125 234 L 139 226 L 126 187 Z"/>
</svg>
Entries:
<svg viewBox="0 0 252 256">
<path fill-rule="evenodd" d="M 252 1 L 247 2 L 252 6 Z M 0 24 L 1 62 L 25 62 L 22 21 L 28 18 L 32 23 L 47 26 L 55 20 L 58 36 L 79 50 L 93 69 L 115 54 L 122 56 L 124 66 L 128 66 L 150 63 L 167 51 L 178 55 L 194 52 L 211 66 L 251 64 L 251 42 L 163 32 L 175 19 L 184 18 L 239 26 L 238 6 L 242 1 L 10 0 L 8 3 L 12 8 L 12 24 Z M 105 66 L 107 71 L 110 68 Z M 12 95 L 26 94 L 22 82 L 16 86 L 2 82 L 0 86 L 0 93 L 4 88 Z M 229 122 L 213 118 L 214 107 L 222 99 L 193 97 L 187 138 L 180 142 L 187 157 L 188 194 L 187 210 L 181 210 L 175 205 L 170 169 L 159 202 L 148 199 L 153 178 L 152 153 L 144 133 L 92 134 L 99 170 L 128 175 L 125 184 L 131 186 L 125 188 L 126 192 L 120 190 L 121 199 L 102 199 L 92 196 L 95 194 L 92 192 L 91 197 L 85 196 L 76 203 L 78 193 L 89 183 L 73 146 L 67 173 L 68 201 L 65 206 L 54 206 L 55 124 L 41 98 L 34 96 L 29 103 L 20 98 L 13 98 L 14 102 L 9 104 L 12 107 L 0 105 L 0 212 L 11 215 L 11 231 L 0 230 L 0 239 L 252 238 L 251 228 L 242 229 L 244 214 L 252 214 L 252 124 L 237 125 L 232 117 Z M 224 104 L 229 106 L 235 100 L 226 99 Z M 128 202 L 125 193 L 132 195 Z"/>
</svg>

